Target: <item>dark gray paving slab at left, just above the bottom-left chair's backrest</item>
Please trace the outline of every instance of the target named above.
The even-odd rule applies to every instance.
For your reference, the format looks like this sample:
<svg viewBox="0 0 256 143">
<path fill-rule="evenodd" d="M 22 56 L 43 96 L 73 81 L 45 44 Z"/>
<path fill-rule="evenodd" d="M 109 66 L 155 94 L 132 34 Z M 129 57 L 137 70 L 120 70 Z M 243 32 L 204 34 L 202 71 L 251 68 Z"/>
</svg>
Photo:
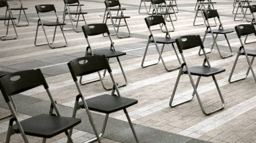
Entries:
<svg viewBox="0 0 256 143">
<path fill-rule="evenodd" d="M 49 62 L 40 62 L 37 60 L 33 60 L 30 62 L 21 62 L 18 64 L 11 64 L 11 65 L 4 66 L 4 67 L 15 69 L 15 70 L 28 70 L 28 69 L 32 69 L 32 68 L 39 68 L 41 66 L 48 66 L 50 64 L 51 63 L 49 63 Z"/>
</svg>

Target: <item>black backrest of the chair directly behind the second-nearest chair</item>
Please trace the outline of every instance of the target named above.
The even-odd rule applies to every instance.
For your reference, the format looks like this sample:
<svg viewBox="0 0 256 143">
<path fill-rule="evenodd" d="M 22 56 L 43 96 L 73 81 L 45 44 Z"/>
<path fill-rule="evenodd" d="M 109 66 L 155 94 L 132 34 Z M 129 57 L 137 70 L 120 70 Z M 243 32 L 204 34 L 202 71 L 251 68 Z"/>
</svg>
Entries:
<svg viewBox="0 0 256 143">
<path fill-rule="evenodd" d="M 108 35 L 110 35 L 108 31 L 108 26 L 106 26 L 106 23 L 88 24 L 88 25 L 82 26 L 82 30 L 86 38 L 88 38 L 88 36 L 94 36 L 94 35 L 104 34 L 104 33 L 107 33 Z"/>
</svg>

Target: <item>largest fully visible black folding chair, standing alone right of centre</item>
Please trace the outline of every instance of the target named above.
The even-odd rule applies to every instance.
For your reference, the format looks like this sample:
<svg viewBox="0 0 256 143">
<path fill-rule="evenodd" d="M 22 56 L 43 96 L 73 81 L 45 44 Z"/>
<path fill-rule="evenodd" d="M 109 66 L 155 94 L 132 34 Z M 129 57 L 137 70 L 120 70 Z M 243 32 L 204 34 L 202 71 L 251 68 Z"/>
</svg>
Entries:
<svg viewBox="0 0 256 143">
<path fill-rule="evenodd" d="M 183 59 L 183 64 L 181 64 L 179 75 L 177 77 L 177 81 L 176 81 L 174 89 L 172 91 L 172 96 L 170 98 L 170 103 L 169 103 L 170 107 L 175 107 L 177 105 L 187 103 L 187 102 L 191 101 L 193 99 L 193 97 L 196 95 L 197 101 L 198 101 L 198 103 L 201 107 L 201 111 L 205 115 L 210 115 L 212 113 L 215 113 L 216 111 L 220 111 L 221 109 L 224 109 L 224 107 L 225 107 L 224 99 L 222 97 L 222 93 L 220 92 L 220 87 L 218 86 L 215 75 L 224 72 L 225 69 L 214 68 L 210 65 L 210 62 L 209 62 L 208 57 L 205 53 L 203 43 L 201 42 L 201 38 L 200 38 L 199 35 L 197 35 L 197 36 L 181 36 L 181 37 L 177 38 L 175 41 L 176 41 L 177 46 L 179 48 L 179 52 L 181 53 L 181 57 Z M 203 60 L 203 65 L 202 66 L 191 66 L 191 67 L 189 67 L 186 60 L 185 60 L 185 57 L 183 55 L 183 50 L 187 50 L 187 49 L 190 49 L 190 48 L 195 48 L 197 46 L 200 46 L 200 48 L 203 50 L 203 55 L 205 56 L 205 59 Z M 207 64 L 207 65 L 205 65 L 205 64 Z M 174 95 L 175 95 L 175 92 L 177 90 L 179 80 L 181 78 L 181 75 L 184 75 L 184 74 L 189 75 L 189 80 L 190 80 L 191 85 L 193 87 L 193 94 L 192 94 L 191 98 L 189 98 L 185 101 L 182 101 L 181 103 L 177 103 L 175 105 L 172 105 L 172 101 L 174 99 Z M 194 83 L 193 78 L 192 78 L 191 75 L 198 76 L 196 84 Z M 216 89 L 217 89 L 217 91 L 220 95 L 220 99 L 222 101 L 222 106 L 220 108 L 214 109 L 212 111 L 205 111 L 205 108 L 203 107 L 203 103 L 201 102 L 201 99 L 200 99 L 199 94 L 197 92 L 197 87 L 199 85 L 199 81 L 200 81 L 201 77 L 210 77 L 210 76 L 214 80 L 214 83 L 216 85 Z"/>
</svg>

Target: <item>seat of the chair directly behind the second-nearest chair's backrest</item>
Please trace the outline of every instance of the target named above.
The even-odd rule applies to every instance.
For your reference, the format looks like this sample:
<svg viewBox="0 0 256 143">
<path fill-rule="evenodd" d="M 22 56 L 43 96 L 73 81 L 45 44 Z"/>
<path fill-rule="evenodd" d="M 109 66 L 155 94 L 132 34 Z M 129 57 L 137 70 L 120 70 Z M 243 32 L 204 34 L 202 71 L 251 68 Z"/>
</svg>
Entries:
<svg viewBox="0 0 256 143">
<path fill-rule="evenodd" d="M 105 55 L 106 58 L 113 58 L 117 56 L 123 56 L 126 54 L 125 52 L 109 50 L 109 49 L 95 50 L 93 52 L 95 55 Z"/>
</svg>

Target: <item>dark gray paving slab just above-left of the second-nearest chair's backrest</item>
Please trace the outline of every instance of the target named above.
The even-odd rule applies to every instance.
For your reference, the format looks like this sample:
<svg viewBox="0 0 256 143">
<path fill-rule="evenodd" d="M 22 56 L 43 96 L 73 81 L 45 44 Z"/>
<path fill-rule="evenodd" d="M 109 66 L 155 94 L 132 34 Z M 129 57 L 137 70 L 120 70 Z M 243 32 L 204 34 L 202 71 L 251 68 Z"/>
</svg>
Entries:
<svg viewBox="0 0 256 143">
<path fill-rule="evenodd" d="M 75 58 L 74 56 L 61 55 L 61 56 L 53 56 L 53 57 L 49 57 L 49 58 L 42 58 L 38 61 L 49 62 L 51 64 L 58 64 L 61 62 L 69 62 L 70 60 L 73 60 L 74 58 Z"/>
</svg>

